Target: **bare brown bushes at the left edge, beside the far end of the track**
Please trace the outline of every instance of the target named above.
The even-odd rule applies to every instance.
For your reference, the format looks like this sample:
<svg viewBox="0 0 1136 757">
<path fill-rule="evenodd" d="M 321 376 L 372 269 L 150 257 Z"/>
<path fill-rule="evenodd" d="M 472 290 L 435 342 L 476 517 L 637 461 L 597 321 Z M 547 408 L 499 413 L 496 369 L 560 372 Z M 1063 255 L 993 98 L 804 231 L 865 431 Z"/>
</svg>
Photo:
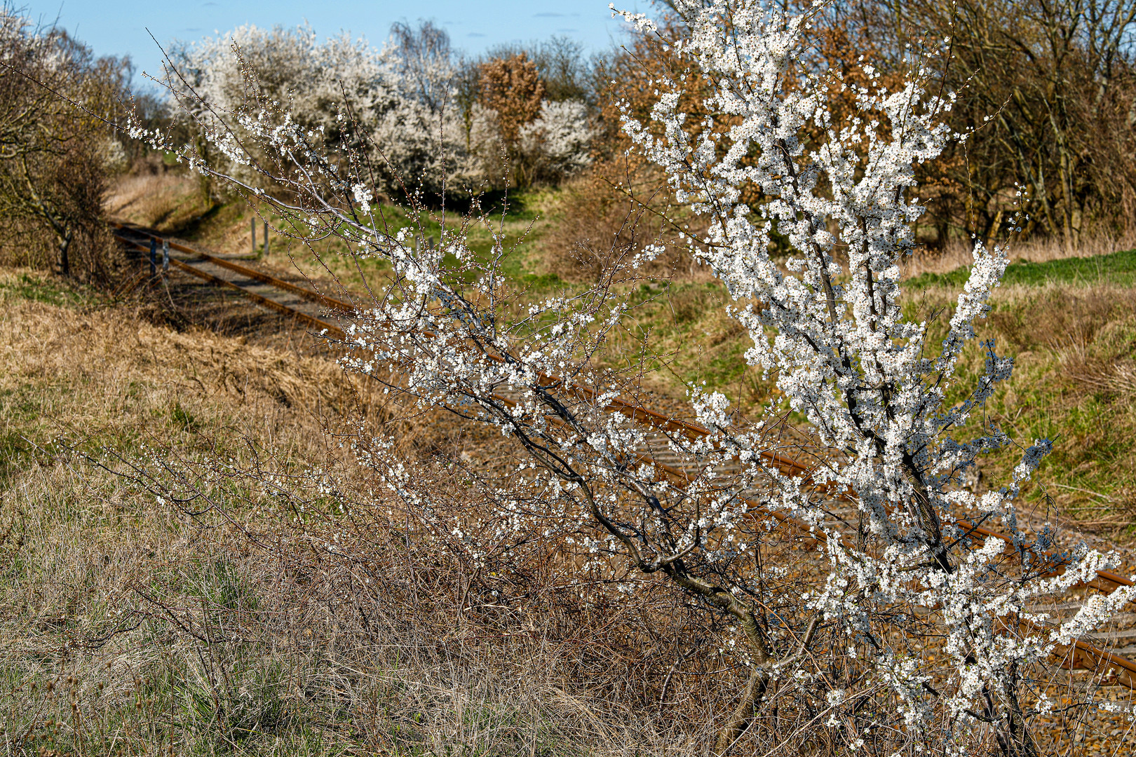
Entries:
<svg viewBox="0 0 1136 757">
<path fill-rule="evenodd" d="M 115 107 L 126 61 L 95 60 L 65 32 L 7 10 L 0 27 L 0 58 L 11 61 L 0 69 L 0 262 L 110 280 L 120 259 L 102 200 L 120 148 L 91 113 Z"/>
</svg>

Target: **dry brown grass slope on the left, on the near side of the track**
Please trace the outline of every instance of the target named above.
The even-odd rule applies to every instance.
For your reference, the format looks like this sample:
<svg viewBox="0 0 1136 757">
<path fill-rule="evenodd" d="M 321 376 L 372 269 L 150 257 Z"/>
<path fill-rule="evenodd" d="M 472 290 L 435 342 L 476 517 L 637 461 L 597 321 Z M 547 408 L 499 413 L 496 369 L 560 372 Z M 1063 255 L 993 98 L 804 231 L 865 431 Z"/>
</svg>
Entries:
<svg viewBox="0 0 1136 757">
<path fill-rule="evenodd" d="M 6 754 L 701 749 L 633 706 L 658 693 L 628 665 L 674 644 L 637 606 L 503 608 L 381 498 L 327 508 L 328 480 L 366 480 L 325 431 L 377 412 L 334 362 L 40 302 L 27 280 L 0 275 Z"/>
</svg>

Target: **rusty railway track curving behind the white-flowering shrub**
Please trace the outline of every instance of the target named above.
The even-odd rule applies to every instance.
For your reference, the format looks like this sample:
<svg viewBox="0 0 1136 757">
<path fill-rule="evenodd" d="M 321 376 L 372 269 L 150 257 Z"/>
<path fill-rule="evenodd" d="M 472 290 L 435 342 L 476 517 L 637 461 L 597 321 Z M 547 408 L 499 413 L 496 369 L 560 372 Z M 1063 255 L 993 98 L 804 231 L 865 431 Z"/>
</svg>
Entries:
<svg viewBox="0 0 1136 757">
<path fill-rule="evenodd" d="M 342 319 L 350 318 L 356 312 L 356 305 L 350 302 L 298 286 L 225 256 L 210 254 L 168 239 L 148 229 L 126 224 L 115 224 L 114 227 L 115 235 L 128 250 L 149 254 L 152 249 L 157 247 L 160 251 L 162 244 L 168 243 L 172 268 L 210 284 L 240 292 L 253 303 L 287 316 L 333 339 L 345 340 L 346 338 Z M 144 259 L 143 262 L 145 262 Z M 548 378 L 551 379 L 551 377 Z M 594 393 L 586 387 L 560 386 L 578 398 L 586 399 L 594 396 Z M 499 396 L 498 398 L 508 404 L 516 402 L 516 397 Z M 669 449 L 666 435 L 680 434 L 688 438 L 696 438 L 707 436 L 709 434 L 707 429 L 623 398 L 610 402 L 605 410 L 623 414 L 628 419 L 628 422 L 636 422 L 652 429 L 652 434 L 648 437 L 646 447 L 637 453 L 641 462 L 653 464 L 657 470 L 671 478 L 679 486 L 692 478 L 692 472 L 685 469 L 678 455 Z M 771 452 L 766 453 L 766 457 L 783 473 L 805 478 L 811 474 L 809 466 L 787 455 Z M 842 493 L 825 491 L 819 487 L 818 491 L 827 494 L 834 503 L 842 499 L 847 501 Z M 808 535 L 812 533 L 809 525 L 785 513 L 769 510 L 755 502 L 751 502 L 751 511 L 772 516 L 784 527 L 805 535 L 807 540 Z M 970 533 L 971 539 L 977 545 L 987 539 L 995 539 L 1005 545 L 1008 554 L 1017 550 L 1013 539 L 1008 535 L 966 520 L 959 520 L 958 524 Z M 817 542 L 816 539 L 811 541 L 813 545 Z M 1059 564 L 1054 572 L 1060 570 L 1062 569 Z M 1108 592 L 1117 587 L 1131 586 L 1131 583 L 1129 579 L 1118 573 L 1097 571 L 1096 579 L 1085 584 L 1085 588 Z M 1056 613 L 1060 620 L 1071 615 L 1080 606 L 1081 600 L 1070 600 L 1029 609 Z M 1117 625 L 1118 628 L 1109 632 L 1088 634 L 1068 647 L 1059 647 L 1055 655 L 1060 658 L 1062 666 L 1070 670 L 1089 671 L 1103 683 L 1117 683 L 1136 689 L 1136 662 L 1130 658 L 1136 657 L 1136 612 L 1121 613 L 1117 617 Z M 1028 630 L 1030 626 L 1024 628 Z"/>
</svg>

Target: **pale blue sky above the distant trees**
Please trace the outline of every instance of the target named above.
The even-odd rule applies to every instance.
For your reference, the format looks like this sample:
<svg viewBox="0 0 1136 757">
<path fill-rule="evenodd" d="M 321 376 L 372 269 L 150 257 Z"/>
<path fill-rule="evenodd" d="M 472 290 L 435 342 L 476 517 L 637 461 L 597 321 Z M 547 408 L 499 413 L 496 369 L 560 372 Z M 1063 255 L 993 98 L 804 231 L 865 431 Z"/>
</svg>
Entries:
<svg viewBox="0 0 1136 757">
<path fill-rule="evenodd" d="M 159 42 L 212 36 L 242 24 L 295 26 L 308 22 L 323 35 L 346 30 L 378 45 L 398 20 L 441 24 L 456 48 L 481 52 L 502 42 L 565 34 L 588 50 L 602 50 L 620 35 L 609 0 L 28 0 L 17 2 L 34 20 L 59 24 L 95 54 L 130 53 L 141 72 L 161 70 Z M 646 0 L 617 6 L 646 7 Z M 149 28 L 150 33 L 147 32 Z M 144 86 L 144 85 L 143 85 Z"/>
</svg>

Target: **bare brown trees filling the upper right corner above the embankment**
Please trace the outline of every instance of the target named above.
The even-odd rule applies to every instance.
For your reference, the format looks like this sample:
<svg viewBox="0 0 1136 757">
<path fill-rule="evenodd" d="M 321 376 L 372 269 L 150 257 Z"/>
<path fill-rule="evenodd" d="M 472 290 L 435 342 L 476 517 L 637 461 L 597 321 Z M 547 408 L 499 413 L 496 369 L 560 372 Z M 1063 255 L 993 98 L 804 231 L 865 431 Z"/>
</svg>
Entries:
<svg viewBox="0 0 1136 757">
<path fill-rule="evenodd" d="M 1019 191 L 1026 230 L 1076 249 L 1136 210 L 1136 2 L 1131 0 L 884 0 L 850 2 L 864 39 L 900 56 L 945 45 L 946 117 L 968 135 L 928 171 L 950 185 L 932 213 L 992 241 Z M 947 42 L 949 40 L 949 42 Z"/>
</svg>

